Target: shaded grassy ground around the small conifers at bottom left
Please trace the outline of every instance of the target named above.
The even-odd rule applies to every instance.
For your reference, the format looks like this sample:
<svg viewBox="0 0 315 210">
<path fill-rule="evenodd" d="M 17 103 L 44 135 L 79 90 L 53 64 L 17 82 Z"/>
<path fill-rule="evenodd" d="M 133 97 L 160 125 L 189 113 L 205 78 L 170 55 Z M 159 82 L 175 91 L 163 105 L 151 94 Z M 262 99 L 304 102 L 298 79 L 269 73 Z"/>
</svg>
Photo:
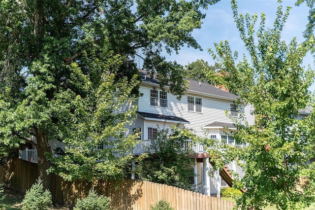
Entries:
<svg viewBox="0 0 315 210">
<path fill-rule="evenodd" d="M 21 210 L 24 193 L 4 187 L 5 198 L 0 201 L 0 210 Z M 52 207 L 50 210 L 70 210 L 63 206 Z"/>
</svg>

